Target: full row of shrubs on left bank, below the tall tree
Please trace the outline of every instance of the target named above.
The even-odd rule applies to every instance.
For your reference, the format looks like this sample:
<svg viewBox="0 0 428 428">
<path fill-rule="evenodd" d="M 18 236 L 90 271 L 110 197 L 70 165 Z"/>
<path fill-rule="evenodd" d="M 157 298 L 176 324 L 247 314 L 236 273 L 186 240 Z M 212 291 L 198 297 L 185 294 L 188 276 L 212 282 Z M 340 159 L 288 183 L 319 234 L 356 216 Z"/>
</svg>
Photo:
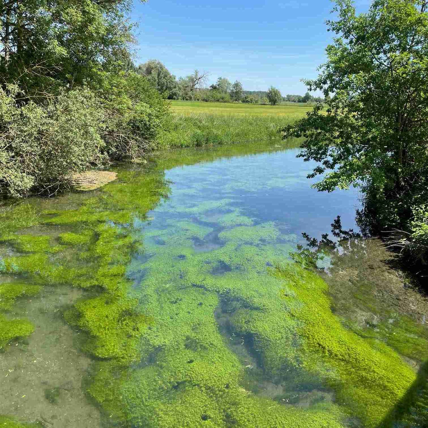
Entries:
<svg viewBox="0 0 428 428">
<path fill-rule="evenodd" d="M 105 74 L 98 93 L 60 91 L 44 104 L 22 104 L 17 85 L 0 88 L 0 194 L 52 195 L 71 174 L 152 149 L 168 106 L 135 73 Z"/>
</svg>

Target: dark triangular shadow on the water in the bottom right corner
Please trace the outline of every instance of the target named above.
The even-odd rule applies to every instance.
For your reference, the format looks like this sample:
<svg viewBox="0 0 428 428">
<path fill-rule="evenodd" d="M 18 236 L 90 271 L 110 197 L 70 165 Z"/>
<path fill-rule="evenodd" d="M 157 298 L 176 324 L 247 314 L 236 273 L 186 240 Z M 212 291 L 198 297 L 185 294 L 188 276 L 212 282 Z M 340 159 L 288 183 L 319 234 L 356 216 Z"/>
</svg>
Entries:
<svg viewBox="0 0 428 428">
<path fill-rule="evenodd" d="M 428 360 L 416 380 L 377 428 L 428 427 Z"/>
</svg>

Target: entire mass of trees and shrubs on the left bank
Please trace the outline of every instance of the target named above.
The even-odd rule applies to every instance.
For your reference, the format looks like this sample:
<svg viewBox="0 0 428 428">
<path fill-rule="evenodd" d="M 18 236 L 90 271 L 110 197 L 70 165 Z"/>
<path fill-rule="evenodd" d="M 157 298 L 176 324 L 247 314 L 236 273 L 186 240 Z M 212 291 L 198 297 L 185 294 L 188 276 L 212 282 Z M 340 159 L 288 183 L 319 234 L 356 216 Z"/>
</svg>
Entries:
<svg viewBox="0 0 428 428">
<path fill-rule="evenodd" d="M 168 110 L 156 88 L 169 90 L 160 86 L 175 78 L 160 63 L 140 69 L 157 86 L 135 71 L 130 7 L 129 0 L 0 6 L 0 194 L 52 195 L 71 187 L 74 172 L 152 148 Z"/>
</svg>

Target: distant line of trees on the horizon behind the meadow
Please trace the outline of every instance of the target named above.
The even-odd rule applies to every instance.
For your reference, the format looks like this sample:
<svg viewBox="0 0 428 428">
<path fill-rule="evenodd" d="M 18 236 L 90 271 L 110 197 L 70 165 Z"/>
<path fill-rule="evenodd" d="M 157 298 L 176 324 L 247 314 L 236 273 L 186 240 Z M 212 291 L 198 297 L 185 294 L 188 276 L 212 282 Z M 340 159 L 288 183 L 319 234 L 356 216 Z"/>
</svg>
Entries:
<svg viewBox="0 0 428 428">
<path fill-rule="evenodd" d="M 145 76 L 165 98 L 171 100 L 273 105 L 282 101 L 296 103 L 323 103 L 325 101 L 324 97 L 314 97 L 309 92 L 306 92 L 305 95 L 282 96 L 279 89 L 273 86 L 270 86 L 267 91 L 246 91 L 239 80 L 232 83 L 226 77 L 218 77 L 215 83 L 206 87 L 207 72 L 195 70 L 192 74 L 177 79 L 162 62 L 156 59 L 149 59 L 144 64 L 140 64 L 136 71 Z"/>
</svg>

